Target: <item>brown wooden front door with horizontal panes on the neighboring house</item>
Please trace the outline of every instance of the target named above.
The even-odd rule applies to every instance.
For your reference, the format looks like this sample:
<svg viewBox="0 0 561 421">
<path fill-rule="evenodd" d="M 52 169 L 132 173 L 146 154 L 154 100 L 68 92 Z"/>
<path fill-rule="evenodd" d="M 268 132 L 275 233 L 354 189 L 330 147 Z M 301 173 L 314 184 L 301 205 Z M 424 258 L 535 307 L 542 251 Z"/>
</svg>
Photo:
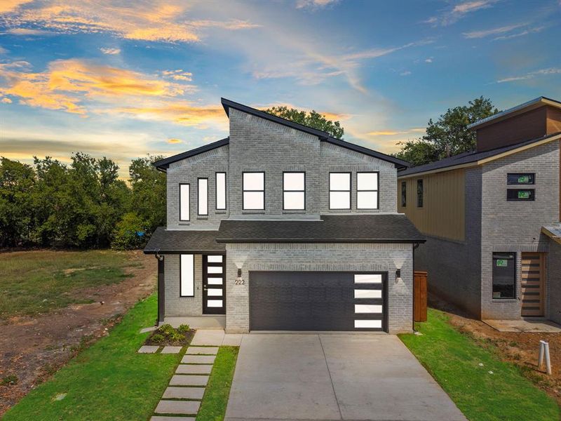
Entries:
<svg viewBox="0 0 561 421">
<path fill-rule="evenodd" d="M 522 316 L 543 316 L 545 253 L 522 253 Z"/>
</svg>

